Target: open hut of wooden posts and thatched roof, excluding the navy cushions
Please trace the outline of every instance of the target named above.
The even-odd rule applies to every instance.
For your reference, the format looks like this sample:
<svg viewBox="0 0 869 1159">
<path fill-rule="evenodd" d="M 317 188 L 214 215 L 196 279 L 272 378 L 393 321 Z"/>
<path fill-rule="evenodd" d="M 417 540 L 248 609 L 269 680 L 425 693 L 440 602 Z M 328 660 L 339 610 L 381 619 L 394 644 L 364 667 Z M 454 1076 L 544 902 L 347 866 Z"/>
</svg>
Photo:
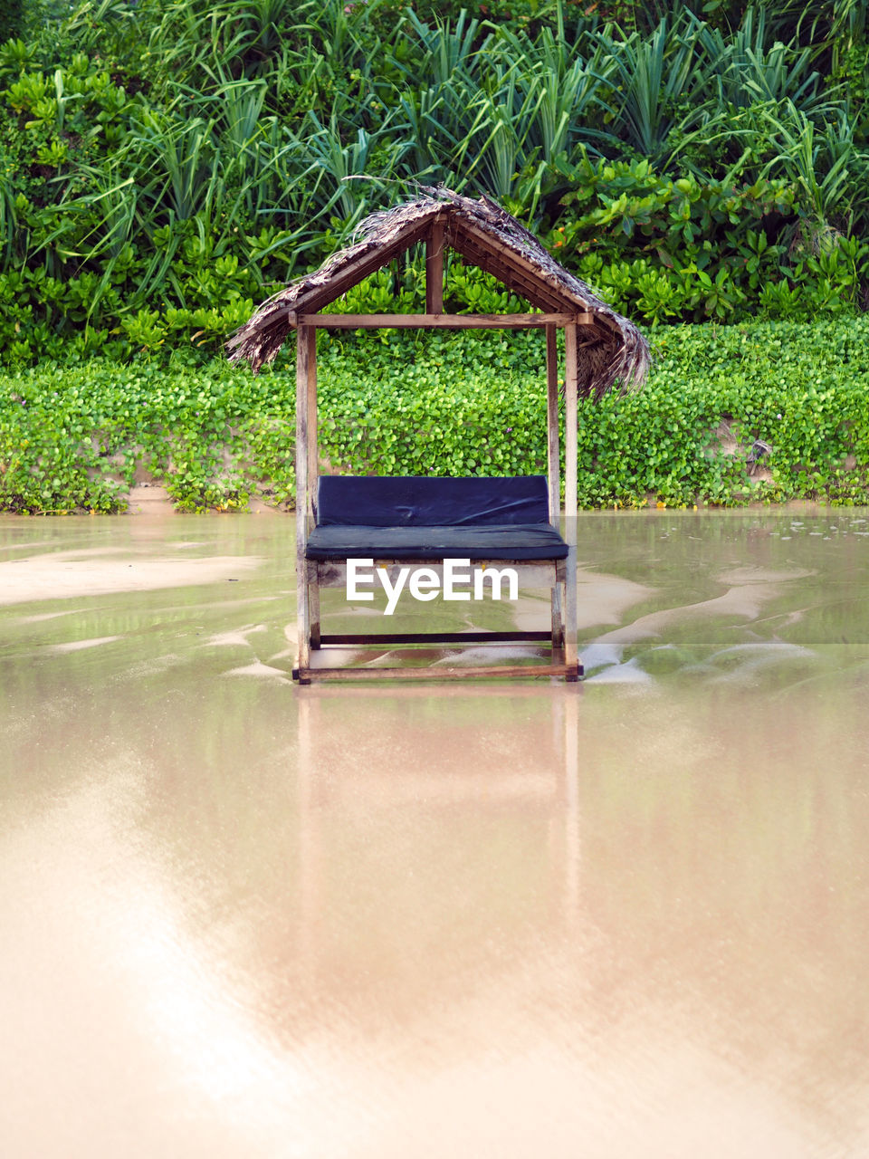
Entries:
<svg viewBox="0 0 869 1159">
<path fill-rule="evenodd" d="M 298 577 L 299 577 L 299 663 L 297 673 L 307 681 L 335 675 L 331 670 L 311 669 L 309 649 L 330 641 L 320 633 L 319 589 L 326 573 L 312 559 L 309 522 L 317 520 L 317 438 L 316 438 L 316 330 L 319 328 L 501 328 L 546 329 L 547 351 L 547 428 L 548 472 L 545 500 L 548 498 L 548 523 L 556 527 L 560 518 L 560 433 L 558 433 L 558 358 L 556 330 L 564 330 L 564 431 L 565 431 L 565 538 L 569 551 L 563 559 L 546 557 L 553 562 L 550 633 L 534 633 L 552 637 L 553 663 L 545 669 L 533 669 L 548 675 L 563 675 L 576 679 L 576 513 L 577 513 L 577 398 L 600 396 L 618 380 L 622 385 L 640 381 L 648 367 L 648 345 L 640 331 L 609 306 L 600 301 L 589 287 L 575 278 L 547 253 L 540 242 L 514 218 L 488 198 L 470 201 L 445 189 L 426 189 L 415 201 L 374 213 L 360 226 L 362 240 L 334 254 L 315 274 L 300 278 L 286 290 L 264 302 L 253 318 L 229 340 L 229 357 L 247 359 L 257 371 L 271 362 L 291 329 L 297 331 L 297 511 L 298 518 Z M 321 314 L 326 306 L 362 282 L 363 278 L 387 265 L 393 258 L 419 242 L 426 246 L 426 291 L 423 314 Z M 511 292 L 527 300 L 534 313 L 527 314 L 444 314 L 444 249 L 450 247 L 467 262 L 494 275 Z M 473 488 L 472 488 L 473 491 Z M 469 493 L 470 494 L 470 493 Z M 472 502 L 472 501 L 469 501 Z M 473 502 L 472 502 L 473 506 Z M 466 524 L 474 523 L 469 511 Z M 319 531 L 314 527 L 314 531 Z M 382 538 L 382 537 L 381 537 Z M 487 559 L 501 564 L 513 560 L 509 554 L 506 537 L 503 551 Z M 441 537 L 443 539 L 443 537 Z M 424 546 L 424 545 L 423 545 Z M 563 546 L 563 545 L 562 545 Z M 379 560 L 409 557 L 394 556 L 389 545 L 372 542 L 366 554 Z M 447 545 L 448 551 L 448 545 Z M 507 553 L 507 554 L 505 554 Z M 358 553 L 357 553 L 358 554 Z M 463 551 L 458 554 L 465 555 Z M 345 553 L 344 559 L 350 557 Z M 434 556 L 422 554 L 419 560 Z M 448 557 L 445 555 L 444 557 Z M 333 555 L 331 561 L 339 559 Z M 518 555 L 517 560 L 527 560 Z M 543 556 L 535 556 L 543 560 Z M 326 561 L 321 560 L 320 563 Z M 330 582 L 335 568 L 328 569 Z M 516 639 L 516 633 L 511 639 Z M 431 641 L 432 636 L 428 637 Z M 497 639 L 497 636 L 490 636 Z M 377 637 L 358 637 L 341 642 L 371 643 Z M 393 642 L 422 642 L 414 639 Z M 454 642 L 454 641 L 453 641 Z M 470 642 L 470 641 L 468 641 Z M 394 670 L 395 675 L 407 670 Z M 440 670 L 437 675 L 459 675 L 460 670 Z M 386 670 L 379 669 L 382 677 Z M 358 675 L 358 673 L 357 673 Z M 419 670 L 416 675 L 422 675 Z M 425 675 L 436 675 L 426 670 Z M 463 675 L 463 673 L 462 673 Z M 473 670 L 470 673 L 473 675 Z M 527 668 L 518 671 L 504 669 L 503 675 L 530 675 Z"/>
</svg>

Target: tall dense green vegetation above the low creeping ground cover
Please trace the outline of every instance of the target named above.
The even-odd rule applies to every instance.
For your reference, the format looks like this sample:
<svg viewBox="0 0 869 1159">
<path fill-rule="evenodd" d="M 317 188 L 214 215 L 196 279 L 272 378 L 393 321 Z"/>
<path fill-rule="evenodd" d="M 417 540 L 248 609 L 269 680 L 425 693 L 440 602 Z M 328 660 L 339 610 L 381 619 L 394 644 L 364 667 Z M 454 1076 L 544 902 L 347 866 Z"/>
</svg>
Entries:
<svg viewBox="0 0 869 1159">
<path fill-rule="evenodd" d="M 640 320 L 866 307 L 866 10 L 30 0 L 0 43 L 0 355 L 211 356 L 417 178 L 501 198 Z M 351 297 L 410 308 L 419 272 Z M 504 297 L 451 278 L 457 308 Z"/>
</svg>

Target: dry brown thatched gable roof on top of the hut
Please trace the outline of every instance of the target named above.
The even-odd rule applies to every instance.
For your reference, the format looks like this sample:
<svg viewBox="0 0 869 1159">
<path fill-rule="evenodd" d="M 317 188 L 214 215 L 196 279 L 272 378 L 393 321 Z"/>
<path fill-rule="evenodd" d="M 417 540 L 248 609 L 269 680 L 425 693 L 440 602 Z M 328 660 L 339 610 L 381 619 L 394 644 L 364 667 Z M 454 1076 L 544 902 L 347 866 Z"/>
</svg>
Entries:
<svg viewBox="0 0 869 1159">
<path fill-rule="evenodd" d="M 423 188 L 414 201 L 372 213 L 352 246 L 320 269 L 263 302 L 227 342 L 229 359 L 246 358 L 254 371 L 271 362 L 299 314 L 314 314 L 397 254 L 444 225 L 444 243 L 467 262 L 492 274 L 532 307 L 547 313 L 592 314 L 577 352 L 579 391 L 600 396 L 618 380 L 640 382 L 649 367 L 649 347 L 640 330 L 601 301 L 543 248 L 538 239 L 490 198 L 472 201 L 448 189 Z"/>
</svg>

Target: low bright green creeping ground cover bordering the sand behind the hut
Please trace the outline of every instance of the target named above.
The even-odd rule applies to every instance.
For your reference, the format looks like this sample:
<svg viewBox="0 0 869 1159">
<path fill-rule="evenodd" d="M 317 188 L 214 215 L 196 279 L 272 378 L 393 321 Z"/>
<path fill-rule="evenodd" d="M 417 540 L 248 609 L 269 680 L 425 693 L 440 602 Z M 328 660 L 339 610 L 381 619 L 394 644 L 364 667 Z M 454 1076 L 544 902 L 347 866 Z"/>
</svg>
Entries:
<svg viewBox="0 0 869 1159">
<path fill-rule="evenodd" d="M 583 506 L 869 502 L 869 318 L 664 327 L 635 393 L 582 402 Z M 294 496 L 292 359 L 44 363 L 0 378 L 0 510 L 123 509 L 137 468 L 181 510 Z M 321 336 L 320 451 L 344 473 L 546 469 L 541 335 Z M 772 450 L 750 472 L 755 440 Z"/>
</svg>

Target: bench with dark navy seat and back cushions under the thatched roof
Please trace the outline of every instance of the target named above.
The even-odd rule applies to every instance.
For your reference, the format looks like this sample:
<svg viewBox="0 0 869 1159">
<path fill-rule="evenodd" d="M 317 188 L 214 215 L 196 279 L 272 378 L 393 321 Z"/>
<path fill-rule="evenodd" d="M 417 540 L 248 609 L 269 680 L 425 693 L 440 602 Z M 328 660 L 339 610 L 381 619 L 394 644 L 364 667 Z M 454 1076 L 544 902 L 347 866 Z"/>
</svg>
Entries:
<svg viewBox="0 0 869 1159">
<path fill-rule="evenodd" d="M 316 523 L 306 537 L 309 640 L 328 644 L 468 644 L 542 642 L 549 664 L 504 664 L 491 670 L 451 669 L 451 675 L 562 676 L 577 679 L 576 548 L 549 522 L 543 475 L 510 479 L 349 478 L 319 480 Z M 320 589 L 344 586 L 348 560 L 373 560 L 393 582 L 400 567 L 418 564 L 443 574 L 444 560 L 472 567 L 510 566 L 524 588 L 552 590 L 552 624 L 545 632 L 328 634 L 320 628 Z M 565 622 L 567 621 L 567 622 Z M 565 632 L 567 629 L 567 632 Z M 567 648 L 565 648 L 567 640 Z M 572 647 L 571 647 L 572 641 Z M 326 678 L 329 669 L 300 664 L 297 677 Z M 343 668 L 346 673 L 348 669 Z M 373 676 L 419 675 L 414 669 L 355 669 Z M 336 672 L 337 675 L 337 672 Z M 429 675 L 433 675 L 429 671 Z M 445 673 L 446 675 L 446 673 Z"/>
</svg>

